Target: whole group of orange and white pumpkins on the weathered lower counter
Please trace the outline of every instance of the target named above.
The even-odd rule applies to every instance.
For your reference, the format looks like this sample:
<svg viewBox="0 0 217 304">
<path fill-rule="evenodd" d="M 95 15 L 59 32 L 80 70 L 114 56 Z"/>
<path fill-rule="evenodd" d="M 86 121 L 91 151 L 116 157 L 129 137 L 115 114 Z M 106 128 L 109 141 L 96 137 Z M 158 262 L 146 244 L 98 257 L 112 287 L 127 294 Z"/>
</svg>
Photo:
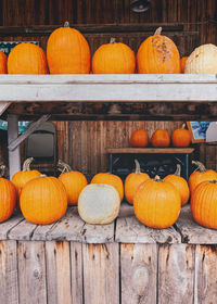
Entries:
<svg viewBox="0 0 217 304">
<path fill-rule="evenodd" d="M 80 217 L 88 224 L 110 224 L 119 213 L 125 197 L 133 205 L 136 217 L 145 226 L 163 229 L 179 217 L 180 208 L 191 195 L 193 218 L 200 225 L 217 229 L 217 173 L 195 162 L 197 170 L 189 182 L 175 174 L 164 179 L 151 179 L 142 173 L 138 161 L 136 170 L 125 182 L 110 173 L 98 173 L 88 185 L 85 175 L 60 162 L 59 178 L 42 176 L 30 169 L 33 159 L 24 163 L 12 181 L 0 178 L 0 223 L 11 217 L 16 202 L 24 217 L 34 224 L 47 225 L 64 216 L 68 205 L 78 205 Z"/>
</svg>

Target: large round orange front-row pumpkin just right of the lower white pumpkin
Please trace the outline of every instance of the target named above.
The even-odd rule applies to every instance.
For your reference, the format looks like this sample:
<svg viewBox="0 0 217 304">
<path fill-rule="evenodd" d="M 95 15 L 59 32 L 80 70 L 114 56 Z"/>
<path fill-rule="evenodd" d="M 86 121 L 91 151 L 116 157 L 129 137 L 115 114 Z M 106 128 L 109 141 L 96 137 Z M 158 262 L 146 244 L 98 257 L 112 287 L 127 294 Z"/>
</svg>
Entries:
<svg viewBox="0 0 217 304">
<path fill-rule="evenodd" d="M 151 228 L 163 229 L 174 225 L 180 208 L 178 190 L 159 177 L 141 183 L 133 199 L 136 217 Z"/>
</svg>

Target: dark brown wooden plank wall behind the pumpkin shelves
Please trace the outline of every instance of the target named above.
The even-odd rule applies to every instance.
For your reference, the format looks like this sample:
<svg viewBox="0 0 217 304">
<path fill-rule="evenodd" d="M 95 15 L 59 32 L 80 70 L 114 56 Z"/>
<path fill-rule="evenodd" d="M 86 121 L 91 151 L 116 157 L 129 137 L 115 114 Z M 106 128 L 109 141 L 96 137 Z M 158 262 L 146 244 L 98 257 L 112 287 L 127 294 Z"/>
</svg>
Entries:
<svg viewBox="0 0 217 304">
<path fill-rule="evenodd" d="M 88 34 L 87 30 L 84 33 L 91 53 L 102 43 L 108 42 L 111 36 L 137 52 L 141 41 L 152 34 L 139 30 L 138 25 L 152 25 L 154 28 L 166 25 L 170 26 L 166 35 L 174 39 L 182 56 L 190 54 L 202 43 L 217 45 L 216 9 L 215 0 L 152 0 L 151 9 L 142 14 L 130 11 L 130 0 L 1 0 L 0 26 L 21 27 L 21 33 L 8 35 L 1 31 L 0 40 L 38 40 L 46 50 L 49 31 L 24 34 L 22 27 L 61 26 L 69 21 L 75 27 L 95 26 L 93 34 Z M 114 29 L 117 25 L 127 27 L 114 34 L 112 27 L 108 33 L 103 33 L 103 25 L 111 25 Z M 173 30 L 177 25 L 182 26 L 182 30 Z M 106 148 L 128 147 L 133 129 L 145 128 L 151 136 L 156 128 L 166 128 L 171 132 L 180 125 L 181 122 L 56 123 L 59 156 L 74 169 L 92 175 L 99 170 L 107 170 Z M 214 161 L 216 155 L 215 147 L 201 149 L 200 157 L 212 168 L 217 168 Z"/>
</svg>

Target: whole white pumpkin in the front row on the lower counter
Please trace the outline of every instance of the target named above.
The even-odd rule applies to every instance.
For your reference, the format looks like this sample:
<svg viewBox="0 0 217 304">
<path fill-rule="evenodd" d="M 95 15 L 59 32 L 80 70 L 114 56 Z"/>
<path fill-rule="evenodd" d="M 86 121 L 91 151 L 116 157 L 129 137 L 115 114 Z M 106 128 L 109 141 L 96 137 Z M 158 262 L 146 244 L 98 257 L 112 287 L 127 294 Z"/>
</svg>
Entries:
<svg viewBox="0 0 217 304">
<path fill-rule="evenodd" d="M 120 199 L 111 185 L 90 183 L 78 198 L 79 216 L 88 224 L 110 224 L 119 213 Z"/>
</svg>

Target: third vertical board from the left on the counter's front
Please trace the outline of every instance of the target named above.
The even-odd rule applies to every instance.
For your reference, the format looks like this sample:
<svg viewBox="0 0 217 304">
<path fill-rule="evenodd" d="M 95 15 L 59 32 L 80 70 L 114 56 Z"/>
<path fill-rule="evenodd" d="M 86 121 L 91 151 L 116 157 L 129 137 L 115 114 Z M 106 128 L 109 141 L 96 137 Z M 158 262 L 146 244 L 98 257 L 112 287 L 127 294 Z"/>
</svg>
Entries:
<svg viewBox="0 0 217 304">
<path fill-rule="evenodd" d="M 71 304 L 68 242 L 46 242 L 48 304 Z"/>
</svg>

